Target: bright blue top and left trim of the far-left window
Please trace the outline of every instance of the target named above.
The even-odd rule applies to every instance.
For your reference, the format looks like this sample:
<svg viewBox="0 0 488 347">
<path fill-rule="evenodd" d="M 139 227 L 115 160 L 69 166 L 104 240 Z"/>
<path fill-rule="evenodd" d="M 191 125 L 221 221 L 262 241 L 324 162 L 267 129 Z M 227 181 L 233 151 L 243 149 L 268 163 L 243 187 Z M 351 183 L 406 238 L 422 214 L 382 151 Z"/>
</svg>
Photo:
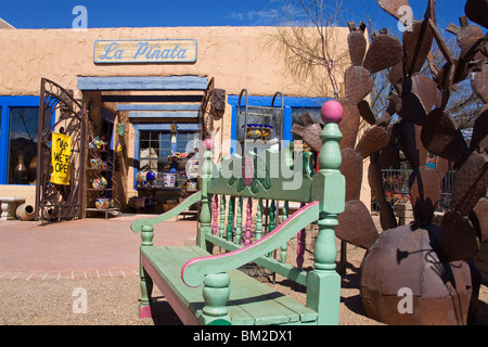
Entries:
<svg viewBox="0 0 488 347">
<path fill-rule="evenodd" d="M 40 98 L 33 95 L 2 97 L 0 95 L 0 184 L 7 184 L 9 167 L 9 133 L 11 107 L 39 107 Z M 15 184 L 17 185 L 17 184 Z"/>
</svg>

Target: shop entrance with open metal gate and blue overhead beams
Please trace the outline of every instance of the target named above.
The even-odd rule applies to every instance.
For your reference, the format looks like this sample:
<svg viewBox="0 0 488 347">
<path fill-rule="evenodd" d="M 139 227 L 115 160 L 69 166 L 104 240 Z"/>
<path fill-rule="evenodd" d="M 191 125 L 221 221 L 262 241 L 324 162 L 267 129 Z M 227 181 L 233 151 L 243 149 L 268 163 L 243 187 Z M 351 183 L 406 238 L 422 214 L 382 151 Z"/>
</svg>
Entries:
<svg viewBox="0 0 488 347">
<path fill-rule="evenodd" d="M 198 189 L 195 144 L 213 136 L 226 104 L 221 90 L 220 103 L 215 101 L 214 79 L 79 77 L 78 101 L 61 86 L 42 82 L 39 220 L 159 214 Z M 63 184 L 51 178 L 57 133 L 73 142 Z"/>
</svg>

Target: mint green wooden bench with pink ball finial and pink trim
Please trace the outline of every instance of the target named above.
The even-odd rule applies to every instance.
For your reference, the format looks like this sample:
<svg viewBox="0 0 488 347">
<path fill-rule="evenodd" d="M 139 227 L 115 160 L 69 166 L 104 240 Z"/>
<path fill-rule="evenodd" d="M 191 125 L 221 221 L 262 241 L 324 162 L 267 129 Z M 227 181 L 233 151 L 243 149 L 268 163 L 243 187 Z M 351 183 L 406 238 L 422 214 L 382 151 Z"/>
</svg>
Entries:
<svg viewBox="0 0 488 347">
<path fill-rule="evenodd" d="M 214 164 L 211 140 L 205 140 L 201 191 L 170 211 L 131 226 L 142 237 L 141 318 L 151 317 L 151 293 L 156 284 L 184 324 L 338 324 L 341 277 L 335 270 L 334 228 L 345 205 L 345 179 L 338 170 L 342 134 L 337 124 L 342 115 L 335 101 L 322 107 L 325 126 L 317 174 L 309 169 L 310 153 L 295 152 L 292 157 L 290 149 L 249 153 L 245 158 L 234 155 Z M 153 226 L 198 201 L 196 246 L 153 245 Z M 268 209 L 265 202 L 271 202 Z M 283 204 L 282 222 L 277 202 Z M 300 205 L 291 216 L 290 202 Z M 314 222 L 313 268 L 286 264 L 287 242 L 297 234 L 304 240 L 305 228 Z M 213 254 L 216 246 L 223 253 Z M 275 249 L 280 259 L 271 256 Z M 306 305 L 239 270 L 249 262 L 305 285 Z"/>
</svg>

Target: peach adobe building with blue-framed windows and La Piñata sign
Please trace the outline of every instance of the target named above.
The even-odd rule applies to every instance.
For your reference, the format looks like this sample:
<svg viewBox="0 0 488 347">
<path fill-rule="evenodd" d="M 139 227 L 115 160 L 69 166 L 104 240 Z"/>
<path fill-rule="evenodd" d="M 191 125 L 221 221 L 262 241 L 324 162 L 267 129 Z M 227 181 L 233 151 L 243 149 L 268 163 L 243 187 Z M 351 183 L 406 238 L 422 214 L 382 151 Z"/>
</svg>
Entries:
<svg viewBox="0 0 488 347">
<path fill-rule="evenodd" d="M 0 196 L 36 205 L 41 79 L 67 90 L 87 117 L 81 158 L 86 170 L 73 183 L 79 184 L 86 216 L 97 215 L 100 197 L 115 200 L 116 211 L 160 213 L 184 196 L 185 189 L 197 189 L 188 176 L 191 159 L 179 160 L 175 168 L 168 156 L 171 151 L 191 152 L 189 143 L 202 138 L 198 112 L 207 101 L 205 110 L 214 107 L 215 116 L 204 116 L 203 127 L 211 130 L 217 158 L 244 143 L 244 125 L 271 131 L 261 147 L 275 144 L 273 139 L 281 144 L 301 140 L 291 132 L 293 124 L 300 123 L 304 113 L 319 121 L 320 107 L 334 95 L 319 95 L 316 81 L 298 80 L 290 73 L 285 54 L 273 44 L 279 30 L 0 29 Z M 330 30 L 334 54 L 344 55 L 348 28 Z M 344 64 L 348 65 L 349 61 Z M 326 85 L 326 76 L 319 74 L 317 79 Z M 339 81 L 343 76 L 344 69 L 336 72 Z M 56 120 L 51 121 L 62 114 L 56 110 Z M 62 127 L 59 121 L 54 130 Z M 43 165 L 46 170 L 49 163 Z M 176 176 L 166 175 L 171 169 Z M 147 171 L 155 177 L 147 177 Z M 144 208 L 132 197 L 143 197 Z M 370 197 L 363 182 L 361 200 L 367 206 Z"/>
</svg>

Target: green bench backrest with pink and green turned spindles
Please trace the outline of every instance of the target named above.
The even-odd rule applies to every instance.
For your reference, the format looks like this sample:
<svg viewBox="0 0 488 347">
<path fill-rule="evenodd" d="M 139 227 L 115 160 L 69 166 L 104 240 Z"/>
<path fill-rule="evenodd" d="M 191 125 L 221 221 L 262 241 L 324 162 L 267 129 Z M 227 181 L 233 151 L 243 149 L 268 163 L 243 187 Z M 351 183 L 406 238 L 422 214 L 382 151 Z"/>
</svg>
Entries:
<svg viewBox="0 0 488 347">
<path fill-rule="evenodd" d="M 290 217 L 292 209 L 312 202 L 318 202 L 319 208 L 314 216 L 308 214 L 308 222 L 318 221 L 319 232 L 325 228 L 333 231 L 345 205 L 345 179 L 338 170 L 342 134 L 337 123 L 341 119 L 323 116 L 323 144 L 316 174 L 311 168 L 311 153 L 291 145 L 281 152 L 249 153 L 244 158 L 234 154 L 214 164 L 213 142 L 205 141 L 200 181 L 202 208 L 197 243 L 201 247 L 211 253 L 215 245 L 226 250 L 247 246 L 271 233 Z M 296 267 L 285 264 L 286 243 L 279 245 L 278 260 L 261 255 L 255 262 L 305 285 L 306 273 L 301 271 L 305 229 L 297 232 L 297 242 Z M 329 261 L 324 267 L 335 267 L 335 234 L 329 233 L 316 243 L 316 262 L 320 266 Z"/>
</svg>

